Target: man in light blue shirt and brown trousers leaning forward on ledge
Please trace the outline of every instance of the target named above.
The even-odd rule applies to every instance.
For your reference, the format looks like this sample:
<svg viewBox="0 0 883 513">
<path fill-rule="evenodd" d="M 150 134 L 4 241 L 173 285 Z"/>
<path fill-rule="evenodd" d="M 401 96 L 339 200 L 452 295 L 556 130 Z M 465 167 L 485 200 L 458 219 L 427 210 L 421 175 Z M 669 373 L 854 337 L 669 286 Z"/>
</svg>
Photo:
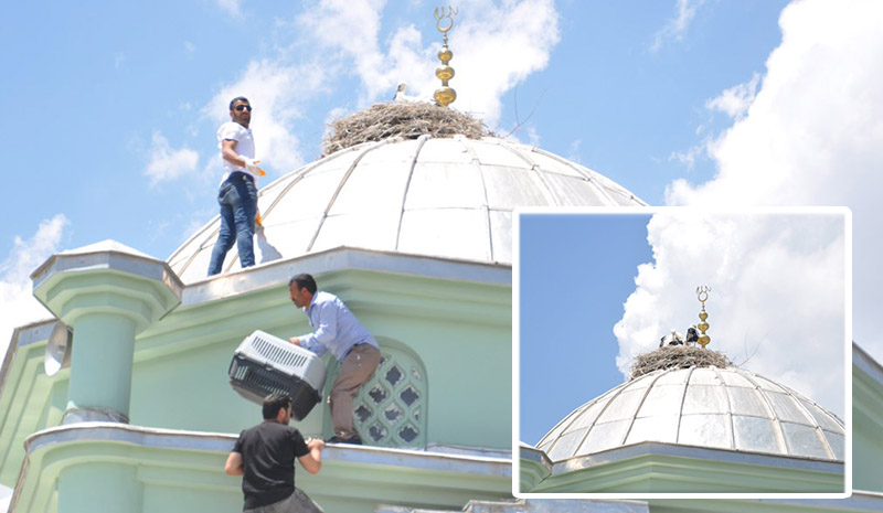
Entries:
<svg viewBox="0 0 883 513">
<path fill-rule="evenodd" d="M 338 378 L 328 397 L 334 436 L 328 441 L 362 443 L 353 426 L 352 402 L 380 364 L 377 341 L 337 296 L 317 292 L 312 276 L 295 276 L 288 282 L 288 291 L 295 306 L 307 313 L 313 330 L 288 341 L 319 355 L 330 351 L 338 361 Z"/>
</svg>

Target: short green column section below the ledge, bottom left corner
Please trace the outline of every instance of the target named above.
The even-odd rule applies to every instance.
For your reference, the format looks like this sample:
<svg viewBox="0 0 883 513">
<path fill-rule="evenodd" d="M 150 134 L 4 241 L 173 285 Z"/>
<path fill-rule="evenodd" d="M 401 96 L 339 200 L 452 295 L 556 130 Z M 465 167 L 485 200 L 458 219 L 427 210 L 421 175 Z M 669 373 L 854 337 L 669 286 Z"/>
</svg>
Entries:
<svg viewBox="0 0 883 513">
<path fill-rule="evenodd" d="M 58 474 L 58 513 L 140 512 L 142 490 L 136 467 L 118 463 L 68 467 Z"/>
</svg>

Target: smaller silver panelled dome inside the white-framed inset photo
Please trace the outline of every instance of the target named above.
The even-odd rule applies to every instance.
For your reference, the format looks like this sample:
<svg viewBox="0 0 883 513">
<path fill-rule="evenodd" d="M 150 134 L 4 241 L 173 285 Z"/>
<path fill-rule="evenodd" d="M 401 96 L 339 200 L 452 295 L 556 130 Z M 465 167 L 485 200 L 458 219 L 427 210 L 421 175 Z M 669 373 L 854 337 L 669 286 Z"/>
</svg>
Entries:
<svg viewBox="0 0 883 513">
<path fill-rule="evenodd" d="M 843 423 L 799 393 L 737 367 L 653 371 L 567 415 L 536 445 L 552 462 L 655 441 L 844 460 Z"/>
</svg>

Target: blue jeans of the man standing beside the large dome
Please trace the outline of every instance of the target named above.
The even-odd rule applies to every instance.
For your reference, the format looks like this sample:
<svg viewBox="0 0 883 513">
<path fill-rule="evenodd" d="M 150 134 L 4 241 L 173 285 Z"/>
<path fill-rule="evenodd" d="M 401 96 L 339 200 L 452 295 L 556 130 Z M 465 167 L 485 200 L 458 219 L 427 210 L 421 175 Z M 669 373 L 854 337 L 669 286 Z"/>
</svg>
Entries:
<svg viewBox="0 0 883 513">
<path fill-rule="evenodd" d="M 224 257 L 236 242 L 243 268 L 255 265 L 255 214 L 257 213 L 257 189 L 251 177 L 233 172 L 217 191 L 221 204 L 221 232 L 212 250 L 209 276 L 221 272 Z"/>
</svg>

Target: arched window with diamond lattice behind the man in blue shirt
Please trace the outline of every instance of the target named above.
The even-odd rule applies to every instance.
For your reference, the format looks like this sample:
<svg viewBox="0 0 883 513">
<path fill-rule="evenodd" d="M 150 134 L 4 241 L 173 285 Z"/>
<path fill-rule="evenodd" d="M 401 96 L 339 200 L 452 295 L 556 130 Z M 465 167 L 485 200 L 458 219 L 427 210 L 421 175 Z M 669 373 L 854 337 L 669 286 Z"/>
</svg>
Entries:
<svg viewBox="0 0 883 513">
<path fill-rule="evenodd" d="M 366 445 L 426 447 L 426 370 L 404 345 L 379 339 L 381 361 L 353 400 L 355 430 Z M 329 386 L 337 370 L 329 376 Z"/>
</svg>

